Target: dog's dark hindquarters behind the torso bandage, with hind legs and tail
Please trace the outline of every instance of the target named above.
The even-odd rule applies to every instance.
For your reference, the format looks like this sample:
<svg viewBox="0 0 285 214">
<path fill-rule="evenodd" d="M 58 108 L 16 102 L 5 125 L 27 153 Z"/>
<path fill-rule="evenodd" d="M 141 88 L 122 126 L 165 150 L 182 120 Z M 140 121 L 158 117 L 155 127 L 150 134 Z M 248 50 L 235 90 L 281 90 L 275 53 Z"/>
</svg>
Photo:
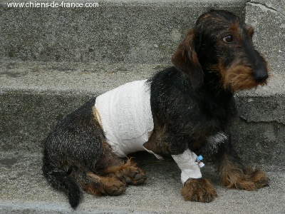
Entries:
<svg viewBox="0 0 285 214">
<path fill-rule="evenodd" d="M 43 149 L 43 175 L 63 190 L 76 208 L 82 190 L 93 195 L 120 195 L 127 184 L 145 175 L 135 163 L 115 156 L 93 114 L 94 100 L 68 114 L 49 134 Z"/>
</svg>

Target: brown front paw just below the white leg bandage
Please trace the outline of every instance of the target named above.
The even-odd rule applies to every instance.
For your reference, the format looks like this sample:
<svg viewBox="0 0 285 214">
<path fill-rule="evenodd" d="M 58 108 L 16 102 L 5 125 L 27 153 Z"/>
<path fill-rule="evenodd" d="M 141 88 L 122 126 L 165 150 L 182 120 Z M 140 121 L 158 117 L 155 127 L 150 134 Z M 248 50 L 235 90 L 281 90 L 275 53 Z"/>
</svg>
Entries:
<svg viewBox="0 0 285 214">
<path fill-rule="evenodd" d="M 181 194 L 185 200 L 198 201 L 209 203 L 217 197 L 217 192 L 205 178 L 189 178 L 184 187 L 182 188 Z"/>
</svg>

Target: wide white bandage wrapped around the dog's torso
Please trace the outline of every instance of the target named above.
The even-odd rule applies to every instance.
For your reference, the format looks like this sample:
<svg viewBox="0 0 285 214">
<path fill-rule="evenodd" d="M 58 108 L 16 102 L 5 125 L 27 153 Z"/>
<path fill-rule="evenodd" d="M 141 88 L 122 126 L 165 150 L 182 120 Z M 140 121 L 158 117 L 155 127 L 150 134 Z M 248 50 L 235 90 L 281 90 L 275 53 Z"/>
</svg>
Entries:
<svg viewBox="0 0 285 214">
<path fill-rule="evenodd" d="M 150 86 L 146 81 L 126 83 L 96 98 L 95 108 L 100 115 L 107 143 L 117 156 L 148 151 L 143 144 L 148 141 L 154 125 Z"/>
</svg>

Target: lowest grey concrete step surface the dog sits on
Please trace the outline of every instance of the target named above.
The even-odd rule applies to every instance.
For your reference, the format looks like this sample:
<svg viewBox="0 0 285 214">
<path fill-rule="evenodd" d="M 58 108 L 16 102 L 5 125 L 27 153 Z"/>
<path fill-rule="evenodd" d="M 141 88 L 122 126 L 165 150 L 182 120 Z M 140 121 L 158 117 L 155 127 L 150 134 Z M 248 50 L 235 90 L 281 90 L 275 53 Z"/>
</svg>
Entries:
<svg viewBox="0 0 285 214">
<path fill-rule="evenodd" d="M 32 142 L 31 142 L 32 143 Z M 74 211 L 66 195 L 53 190 L 41 174 L 41 153 L 0 153 L 0 213 L 284 213 L 284 165 L 264 165 L 269 187 L 257 191 L 227 190 L 214 168 L 202 174 L 212 180 L 219 195 L 212 203 L 185 202 L 180 195 L 180 170 L 172 161 L 144 162 L 147 183 L 129 186 L 117 197 L 84 193 Z"/>
</svg>

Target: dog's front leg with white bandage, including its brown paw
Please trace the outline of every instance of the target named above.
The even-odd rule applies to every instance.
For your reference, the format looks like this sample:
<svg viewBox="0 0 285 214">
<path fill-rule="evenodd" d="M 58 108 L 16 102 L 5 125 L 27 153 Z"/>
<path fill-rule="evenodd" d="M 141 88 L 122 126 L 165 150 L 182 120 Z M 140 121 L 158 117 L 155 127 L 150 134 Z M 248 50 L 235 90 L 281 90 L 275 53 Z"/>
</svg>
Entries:
<svg viewBox="0 0 285 214">
<path fill-rule="evenodd" d="M 172 156 L 181 169 L 181 181 L 184 184 L 181 194 L 185 200 L 211 202 L 217 197 L 216 190 L 209 180 L 202 178 L 197 155 L 187 149 L 180 155 Z"/>
</svg>

